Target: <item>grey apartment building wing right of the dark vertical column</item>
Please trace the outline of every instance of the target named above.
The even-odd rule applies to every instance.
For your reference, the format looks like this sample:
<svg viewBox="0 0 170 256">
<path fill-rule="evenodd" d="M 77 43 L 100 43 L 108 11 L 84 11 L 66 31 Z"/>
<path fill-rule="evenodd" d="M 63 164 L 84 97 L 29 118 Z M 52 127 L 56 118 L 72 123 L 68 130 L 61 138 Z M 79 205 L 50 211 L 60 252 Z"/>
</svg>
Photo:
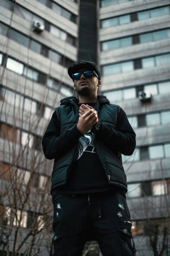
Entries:
<svg viewBox="0 0 170 256">
<path fill-rule="evenodd" d="M 134 154 L 122 155 L 132 231 L 138 255 L 152 255 L 147 219 L 162 226 L 170 197 L 170 2 L 101 0 L 99 21 L 102 94 L 136 132 Z"/>
</svg>

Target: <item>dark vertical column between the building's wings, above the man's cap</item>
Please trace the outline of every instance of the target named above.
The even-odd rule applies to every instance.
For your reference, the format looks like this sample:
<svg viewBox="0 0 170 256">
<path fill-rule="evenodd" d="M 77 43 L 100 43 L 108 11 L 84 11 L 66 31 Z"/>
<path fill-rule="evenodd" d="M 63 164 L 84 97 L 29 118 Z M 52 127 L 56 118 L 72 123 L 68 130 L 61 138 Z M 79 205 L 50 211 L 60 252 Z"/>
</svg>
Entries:
<svg viewBox="0 0 170 256">
<path fill-rule="evenodd" d="M 97 64 L 97 0 L 80 0 L 78 61 Z"/>
</svg>

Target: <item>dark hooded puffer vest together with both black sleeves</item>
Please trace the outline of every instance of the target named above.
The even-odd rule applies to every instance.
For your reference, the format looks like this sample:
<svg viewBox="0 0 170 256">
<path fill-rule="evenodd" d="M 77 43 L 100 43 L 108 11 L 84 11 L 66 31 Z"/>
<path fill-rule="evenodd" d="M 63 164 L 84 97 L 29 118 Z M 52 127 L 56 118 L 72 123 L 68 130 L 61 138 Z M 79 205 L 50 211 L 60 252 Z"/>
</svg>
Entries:
<svg viewBox="0 0 170 256">
<path fill-rule="evenodd" d="M 54 159 L 51 178 L 51 195 L 58 187 L 65 186 L 76 159 L 78 139 L 82 136 L 76 129 L 78 104 L 76 97 L 61 100 L 54 111 L 42 139 L 43 152 L 47 159 Z M 104 95 L 99 95 L 94 109 L 102 123 L 94 133 L 98 158 L 105 171 L 109 185 L 127 192 L 126 175 L 122 166 L 123 155 L 132 155 L 135 150 L 135 132 L 120 106 L 110 104 Z"/>
</svg>

